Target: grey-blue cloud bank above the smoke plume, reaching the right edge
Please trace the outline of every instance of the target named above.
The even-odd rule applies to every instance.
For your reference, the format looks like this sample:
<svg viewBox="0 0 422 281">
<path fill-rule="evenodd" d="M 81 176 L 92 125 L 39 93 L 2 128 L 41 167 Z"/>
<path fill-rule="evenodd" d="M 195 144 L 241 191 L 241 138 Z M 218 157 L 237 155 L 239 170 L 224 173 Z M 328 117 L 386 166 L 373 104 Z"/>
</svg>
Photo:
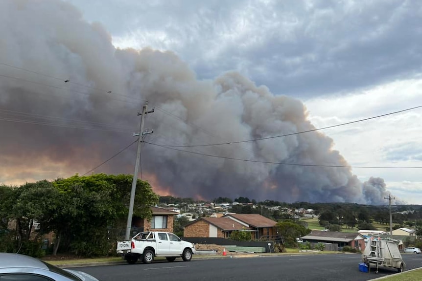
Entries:
<svg viewBox="0 0 422 281">
<path fill-rule="evenodd" d="M 309 98 L 421 72 L 419 1 L 71 1 L 108 22 L 119 47 L 170 49 L 200 78 L 237 70 L 275 94 Z"/>
</svg>

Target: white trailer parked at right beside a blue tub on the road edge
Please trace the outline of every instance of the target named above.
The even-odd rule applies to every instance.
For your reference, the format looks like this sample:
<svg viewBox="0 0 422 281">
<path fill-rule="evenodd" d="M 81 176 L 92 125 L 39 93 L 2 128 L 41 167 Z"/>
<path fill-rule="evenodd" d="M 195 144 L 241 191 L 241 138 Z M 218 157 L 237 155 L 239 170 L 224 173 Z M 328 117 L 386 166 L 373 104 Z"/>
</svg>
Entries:
<svg viewBox="0 0 422 281">
<path fill-rule="evenodd" d="M 375 266 L 375 273 L 378 273 L 379 266 L 396 268 L 398 272 L 402 272 L 405 266 L 397 243 L 392 240 L 381 239 L 379 236 L 368 239 L 362 260 L 367 265 L 369 272 L 371 266 Z"/>
</svg>

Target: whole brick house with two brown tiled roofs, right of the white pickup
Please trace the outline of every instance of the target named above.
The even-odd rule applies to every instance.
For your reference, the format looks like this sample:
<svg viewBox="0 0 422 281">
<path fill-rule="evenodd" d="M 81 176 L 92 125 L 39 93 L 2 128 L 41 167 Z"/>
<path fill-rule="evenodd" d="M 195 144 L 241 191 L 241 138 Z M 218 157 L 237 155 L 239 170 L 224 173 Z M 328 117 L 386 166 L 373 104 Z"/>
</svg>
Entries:
<svg viewBox="0 0 422 281">
<path fill-rule="evenodd" d="M 252 232 L 252 239 L 277 235 L 276 221 L 258 214 L 227 214 L 223 217 L 202 217 L 185 227 L 184 237 L 229 238 L 235 230 Z"/>
</svg>

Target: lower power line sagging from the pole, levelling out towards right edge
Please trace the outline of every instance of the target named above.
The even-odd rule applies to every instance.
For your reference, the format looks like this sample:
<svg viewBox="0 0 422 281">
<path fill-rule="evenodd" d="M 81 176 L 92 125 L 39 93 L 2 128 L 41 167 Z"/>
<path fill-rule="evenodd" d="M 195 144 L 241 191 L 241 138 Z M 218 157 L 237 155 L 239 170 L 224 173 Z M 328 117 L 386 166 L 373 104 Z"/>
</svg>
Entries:
<svg viewBox="0 0 422 281">
<path fill-rule="evenodd" d="M 259 161 L 259 160 L 252 160 L 252 159 L 240 159 L 240 158 L 234 158 L 234 157 L 227 157 L 227 156 L 218 156 L 218 155 L 212 155 L 212 154 L 206 154 L 206 153 L 200 153 L 200 152 L 194 152 L 194 151 L 187 151 L 182 149 L 176 149 L 173 147 L 169 147 L 166 145 L 159 145 L 155 143 L 150 142 L 144 142 L 153 146 L 158 146 L 174 151 L 181 151 L 181 152 L 187 152 L 192 153 L 196 155 L 202 155 L 202 156 L 208 156 L 208 157 L 214 157 L 214 158 L 222 158 L 222 159 L 228 159 L 228 160 L 236 160 L 236 161 L 244 161 L 244 162 L 253 162 L 253 163 L 264 163 L 264 164 L 276 164 L 276 165 L 288 165 L 288 166 L 302 166 L 302 167 L 326 167 L 326 168 L 365 168 L 365 169 L 422 169 L 422 167 L 414 166 L 414 167 L 387 167 L 387 166 L 342 166 L 342 165 L 313 165 L 313 164 L 297 164 L 297 163 L 283 163 L 283 162 L 271 162 L 271 161 Z"/>
</svg>

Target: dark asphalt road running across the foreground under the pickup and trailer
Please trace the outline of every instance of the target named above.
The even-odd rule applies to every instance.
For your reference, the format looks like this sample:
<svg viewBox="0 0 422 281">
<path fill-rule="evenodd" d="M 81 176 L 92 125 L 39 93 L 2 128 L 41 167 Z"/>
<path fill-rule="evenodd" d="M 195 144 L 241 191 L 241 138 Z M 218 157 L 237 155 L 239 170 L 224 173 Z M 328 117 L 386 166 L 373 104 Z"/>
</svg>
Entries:
<svg viewBox="0 0 422 281">
<path fill-rule="evenodd" d="M 295 255 L 256 258 L 197 259 L 73 268 L 100 281 L 367 281 L 397 273 L 360 272 L 360 255 Z M 178 261 L 180 260 L 180 261 Z M 422 266 L 422 254 L 404 254 L 405 270 Z"/>
</svg>

